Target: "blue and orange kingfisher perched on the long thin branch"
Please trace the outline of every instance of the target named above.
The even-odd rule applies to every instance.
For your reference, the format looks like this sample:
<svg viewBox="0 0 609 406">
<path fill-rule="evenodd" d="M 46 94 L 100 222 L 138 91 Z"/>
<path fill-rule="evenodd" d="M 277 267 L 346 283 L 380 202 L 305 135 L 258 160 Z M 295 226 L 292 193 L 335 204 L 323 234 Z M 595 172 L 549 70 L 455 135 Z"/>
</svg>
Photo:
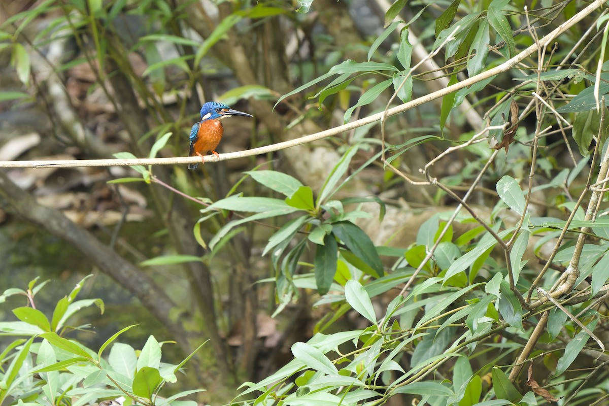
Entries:
<svg viewBox="0 0 609 406">
<path fill-rule="evenodd" d="M 201 107 L 201 121 L 195 123 L 191 129 L 191 146 L 189 156 L 200 156 L 203 161 L 203 154 L 211 151 L 217 158 L 216 147 L 224 134 L 224 127 L 220 120 L 230 116 L 252 117 L 242 111 L 233 110 L 225 104 L 217 102 L 207 102 Z M 205 163 L 205 161 L 203 161 Z M 197 169 L 199 164 L 188 164 L 188 169 Z"/>
</svg>

